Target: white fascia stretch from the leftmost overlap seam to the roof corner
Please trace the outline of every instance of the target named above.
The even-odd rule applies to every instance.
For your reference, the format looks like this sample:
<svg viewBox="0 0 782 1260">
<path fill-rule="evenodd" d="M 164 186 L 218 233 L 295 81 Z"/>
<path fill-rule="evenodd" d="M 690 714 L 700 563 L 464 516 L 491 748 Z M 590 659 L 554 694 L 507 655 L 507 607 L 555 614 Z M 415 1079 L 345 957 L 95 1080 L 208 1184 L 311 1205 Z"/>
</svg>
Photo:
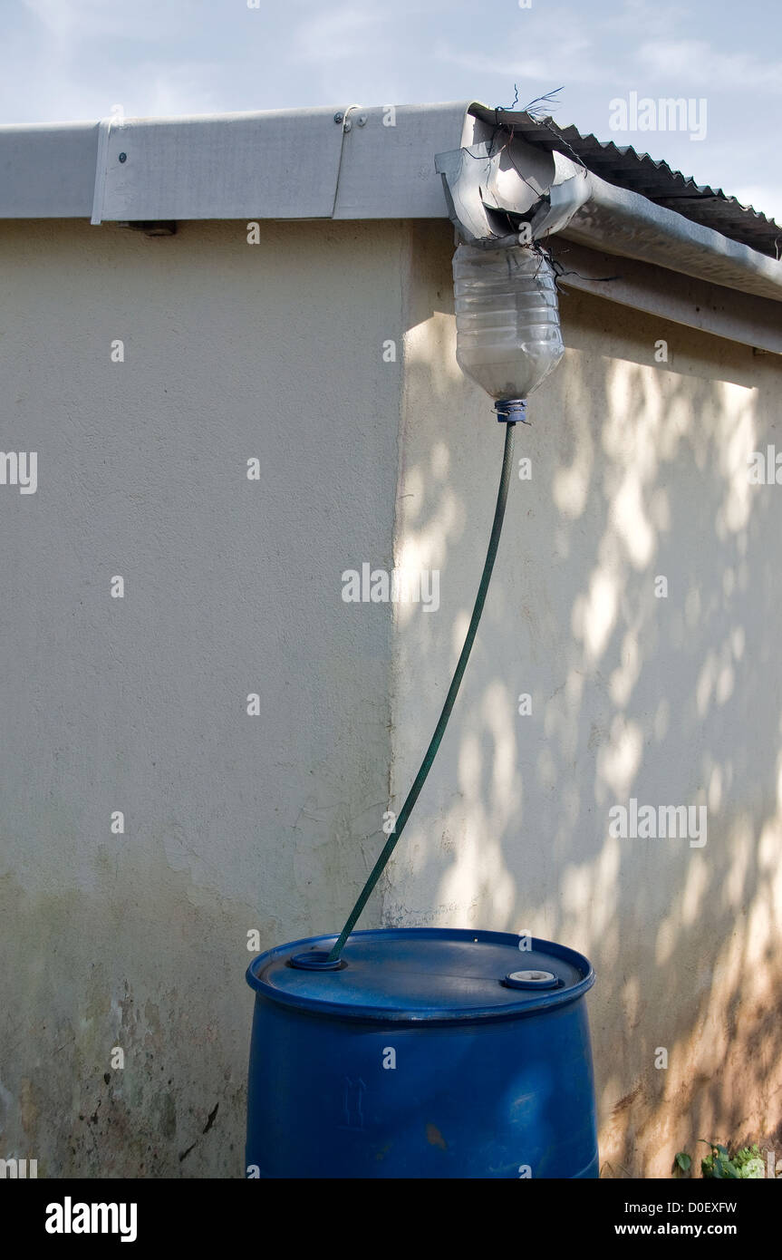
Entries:
<svg viewBox="0 0 782 1260">
<path fill-rule="evenodd" d="M 102 218 L 443 218 L 433 154 L 458 142 L 465 113 L 354 105 L 127 122 L 108 135 Z"/>
</svg>

